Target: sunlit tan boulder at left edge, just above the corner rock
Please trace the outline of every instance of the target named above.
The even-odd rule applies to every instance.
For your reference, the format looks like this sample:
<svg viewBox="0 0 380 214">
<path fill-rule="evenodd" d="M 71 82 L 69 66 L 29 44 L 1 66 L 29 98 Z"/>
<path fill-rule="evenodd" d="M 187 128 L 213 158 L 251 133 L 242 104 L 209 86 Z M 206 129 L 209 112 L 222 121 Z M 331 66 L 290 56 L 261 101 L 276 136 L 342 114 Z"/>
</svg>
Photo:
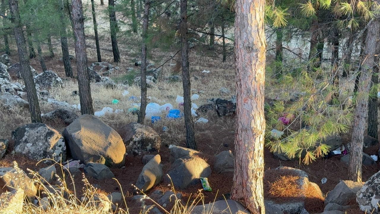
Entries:
<svg viewBox="0 0 380 214">
<path fill-rule="evenodd" d="M 8 191 L 20 188 L 29 198 L 33 198 L 37 194 L 33 180 L 18 166 L 16 168 L 0 167 L 0 188 Z"/>
</svg>

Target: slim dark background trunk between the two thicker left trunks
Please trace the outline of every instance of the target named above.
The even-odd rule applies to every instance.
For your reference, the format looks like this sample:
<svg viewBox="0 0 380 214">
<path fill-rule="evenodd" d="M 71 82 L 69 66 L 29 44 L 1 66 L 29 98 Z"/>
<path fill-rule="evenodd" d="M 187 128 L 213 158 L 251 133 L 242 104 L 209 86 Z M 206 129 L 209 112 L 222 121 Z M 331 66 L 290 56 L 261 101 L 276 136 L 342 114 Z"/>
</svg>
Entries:
<svg viewBox="0 0 380 214">
<path fill-rule="evenodd" d="M 71 67 L 70 54 L 69 54 L 69 46 L 67 42 L 67 32 L 66 32 L 66 24 L 65 24 L 65 10 L 64 10 L 64 2 L 63 0 L 59 0 L 59 13 L 60 13 L 60 34 L 61 34 L 61 49 L 62 49 L 62 61 L 63 66 L 65 67 L 66 77 L 74 78 L 73 68 Z"/>
</svg>

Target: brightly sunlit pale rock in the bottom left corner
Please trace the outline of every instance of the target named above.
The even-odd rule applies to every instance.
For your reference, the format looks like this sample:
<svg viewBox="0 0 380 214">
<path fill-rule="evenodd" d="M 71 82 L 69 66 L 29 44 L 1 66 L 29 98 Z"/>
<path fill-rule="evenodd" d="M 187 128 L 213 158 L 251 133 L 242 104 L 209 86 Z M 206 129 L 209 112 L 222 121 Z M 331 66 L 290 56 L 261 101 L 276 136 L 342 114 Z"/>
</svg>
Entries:
<svg viewBox="0 0 380 214">
<path fill-rule="evenodd" d="M 0 195 L 0 213 L 22 214 L 24 202 L 24 191 L 17 188 Z"/>
</svg>

